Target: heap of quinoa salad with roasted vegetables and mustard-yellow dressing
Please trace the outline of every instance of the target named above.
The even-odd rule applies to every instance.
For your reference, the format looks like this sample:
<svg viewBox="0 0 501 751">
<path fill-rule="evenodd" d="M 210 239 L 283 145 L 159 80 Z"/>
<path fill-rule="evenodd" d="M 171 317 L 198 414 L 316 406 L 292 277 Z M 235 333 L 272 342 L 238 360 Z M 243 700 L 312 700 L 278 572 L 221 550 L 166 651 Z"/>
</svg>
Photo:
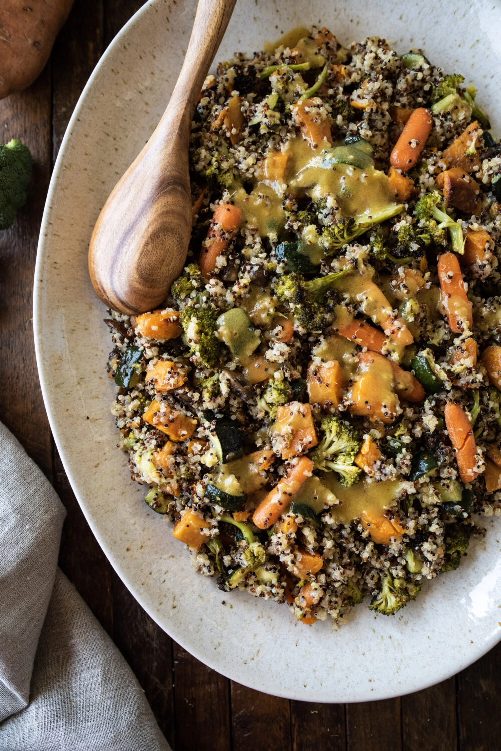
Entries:
<svg viewBox="0 0 501 751">
<path fill-rule="evenodd" d="M 197 571 L 305 623 L 398 611 L 501 514 L 501 146 L 462 83 L 317 27 L 221 62 L 191 128 L 187 268 L 159 310 L 107 320 L 146 502 Z M 420 108 L 419 158 L 390 170 Z"/>
</svg>

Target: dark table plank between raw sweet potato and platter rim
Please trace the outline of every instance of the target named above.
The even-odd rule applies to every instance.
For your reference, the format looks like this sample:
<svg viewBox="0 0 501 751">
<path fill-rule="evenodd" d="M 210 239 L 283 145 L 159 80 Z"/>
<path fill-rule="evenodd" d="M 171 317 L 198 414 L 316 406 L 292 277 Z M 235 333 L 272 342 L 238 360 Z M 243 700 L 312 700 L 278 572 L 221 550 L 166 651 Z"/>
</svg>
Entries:
<svg viewBox="0 0 501 751">
<path fill-rule="evenodd" d="M 68 120 L 103 53 L 102 0 L 75 0 L 50 58 L 52 72 L 52 160 Z"/>
</svg>

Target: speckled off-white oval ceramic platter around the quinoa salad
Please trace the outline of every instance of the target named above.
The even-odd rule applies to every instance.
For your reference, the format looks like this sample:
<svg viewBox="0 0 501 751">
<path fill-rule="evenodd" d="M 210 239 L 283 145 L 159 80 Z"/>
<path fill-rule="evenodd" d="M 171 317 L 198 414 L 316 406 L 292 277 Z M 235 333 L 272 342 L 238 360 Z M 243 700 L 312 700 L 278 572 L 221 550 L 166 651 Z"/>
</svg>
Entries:
<svg viewBox="0 0 501 751">
<path fill-rule="evenodd" d="M 196 574 L 169 523 L 142 502 L 144 489 L 130 481 L 116 448 L 114 388 L 105 369 L 110 338 L 89 281 L 87 249 L 107 195 L 163 113 L 195 5 L 154 0 L 127 23 L 89 80 L 59 152 L 34 279 L 37 362 L 55 441 L 118 575 L 202 662 L 254 689 L 305 701 L 368 701 L 423 689 L 501 638 L 499 519 L 487 520 L 487 538 L 472 544 L 458 571 L 425 584 L 398 616 L 375 617 L 361 607 L 337 631 L 329 622 L 306 627 L 274 602 L 239 591 L 223 598 L 214 580 Z M 475 83 L 478 102 L 501 135 L 501 8 L 494 0 L 426 10 L 403 0 L 343 6 L 239 0 L 216 59 L 260 49 L 263 41 L 310 23 L 329 26 L 346 44 L 378 34 L 400 53 L 423 47 L 434 62 Z"/>
</svg>

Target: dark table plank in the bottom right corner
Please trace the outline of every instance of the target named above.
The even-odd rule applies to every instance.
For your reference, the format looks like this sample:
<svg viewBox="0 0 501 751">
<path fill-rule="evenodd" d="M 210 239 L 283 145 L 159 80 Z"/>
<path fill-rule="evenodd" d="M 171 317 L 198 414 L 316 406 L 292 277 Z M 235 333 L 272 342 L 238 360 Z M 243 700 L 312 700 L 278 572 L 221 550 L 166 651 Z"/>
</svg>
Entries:
<svg viewBox="0 0 501 751">
<path fill-rule="evenodd" d="M 458 686 L 460 751 L 499 749 L 501 644 L 463 670 L 458 675 Z"/>
</svg>

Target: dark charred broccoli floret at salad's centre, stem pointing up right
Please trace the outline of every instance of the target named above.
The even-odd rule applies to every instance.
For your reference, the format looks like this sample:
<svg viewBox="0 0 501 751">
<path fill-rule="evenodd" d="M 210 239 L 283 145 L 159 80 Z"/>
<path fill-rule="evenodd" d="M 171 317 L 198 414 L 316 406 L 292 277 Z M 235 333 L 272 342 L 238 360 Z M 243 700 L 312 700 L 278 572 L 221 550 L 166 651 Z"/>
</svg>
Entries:
<svg viewBox="0 0 501 751">
<path fill-rule="evenodd" d="M 279 277 L 275 284 L 275 294 L 281 303 L 289 303 L 294 318 L 311 333 L 321 333 L 332 323 L 332 301 L 325 298 L 326 292 L 335 287 L 335 282 L 351 270 L 318 276 L 305 282 L 299 271 Z"/>
</svg>

